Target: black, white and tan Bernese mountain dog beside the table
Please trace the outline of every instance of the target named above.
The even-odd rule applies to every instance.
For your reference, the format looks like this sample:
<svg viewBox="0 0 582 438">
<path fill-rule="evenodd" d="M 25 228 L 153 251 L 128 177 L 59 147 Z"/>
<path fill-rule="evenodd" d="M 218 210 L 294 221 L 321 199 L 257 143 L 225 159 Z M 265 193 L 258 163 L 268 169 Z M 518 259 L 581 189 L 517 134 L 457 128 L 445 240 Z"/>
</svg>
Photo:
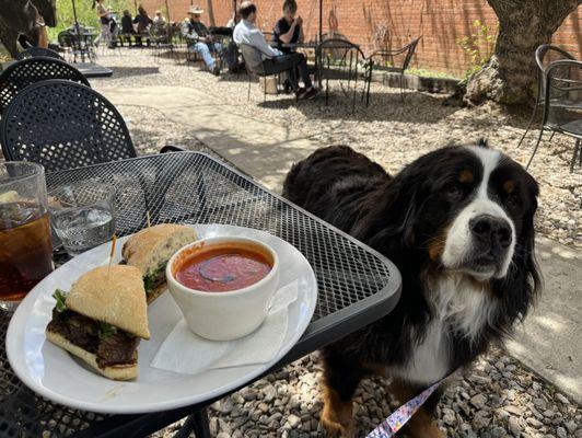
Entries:
<svg viewBox="0 0 582 438">
<path fill-rule="evenodd" d="M 540 285 L 537 195 L 535 180 L 485 140 L 434 150 L 395 176 L 346 146 L 292 166 L 283 196 L 386 255 L 403 276 L 389 314 L 322 351 L 328 436 L 352 435 L 362 377 L 389 377 L 404 403 L 524 318 Z M 440 394 L 410 419 L 411 436 L 442 437 L 431 415 Z"/>
</svg>

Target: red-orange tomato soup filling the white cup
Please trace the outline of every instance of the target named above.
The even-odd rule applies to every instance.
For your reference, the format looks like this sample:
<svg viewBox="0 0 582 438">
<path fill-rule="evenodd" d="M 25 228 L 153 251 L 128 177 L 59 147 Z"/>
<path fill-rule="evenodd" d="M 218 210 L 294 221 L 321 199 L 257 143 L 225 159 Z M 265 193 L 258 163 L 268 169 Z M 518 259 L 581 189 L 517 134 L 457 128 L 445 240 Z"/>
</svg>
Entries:
<svg viewBox="0 0 582 438">
<path fill-rule="evenodd" d="M 246 246 L 209 247 L 182 261 L 174 275 L 187 288 L 226 292 L 243 289 L 265 278 L 272 268 L 269 258 Z"/>
</svg>

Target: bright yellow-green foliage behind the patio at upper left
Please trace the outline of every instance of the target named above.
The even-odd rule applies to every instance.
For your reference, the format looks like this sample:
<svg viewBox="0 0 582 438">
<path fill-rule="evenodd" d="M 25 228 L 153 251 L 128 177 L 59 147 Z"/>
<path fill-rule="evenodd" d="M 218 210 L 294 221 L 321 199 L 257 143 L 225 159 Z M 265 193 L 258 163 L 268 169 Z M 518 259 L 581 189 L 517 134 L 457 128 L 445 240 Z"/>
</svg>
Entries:
<svg viewBox="0 0 582 438">
<path fill-rule="evenodd" d="M 138 1 L 138 5 L 139 3 L 140 2 Z M 121 12 L 124 12 L 125 9 L 129 10 L 131 15 L 135 15 L 136 13 L 132 0 L 106 0 L 105 4 L 110 7 L 117 13 L 119 20 L 121 20 Z M 74 0 L 74 5 L 77 8 L 79 23 L 82 23 L 85 26 L 93 26 L 98 32 L 101 24 L 95 9 L 92 8 L 93 0 Z M 59 32 L 70 27 L 74 22 L 72 0 L 57 0 L 57 27 L 48 28 L 50 41 L 56 41 Z"/>
</svg>

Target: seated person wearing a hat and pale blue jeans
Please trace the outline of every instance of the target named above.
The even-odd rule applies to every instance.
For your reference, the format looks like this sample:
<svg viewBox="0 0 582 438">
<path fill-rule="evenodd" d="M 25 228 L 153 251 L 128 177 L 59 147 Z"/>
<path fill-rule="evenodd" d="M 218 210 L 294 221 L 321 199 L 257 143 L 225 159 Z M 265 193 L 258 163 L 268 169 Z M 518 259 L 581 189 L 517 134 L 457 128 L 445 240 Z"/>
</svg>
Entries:
<svg viewBox="0 0 582 438">
<path fill-rule="evenodd" d="M 210 31 L 205 23 L 200 21 L 200 15 L 203 12 L 205 11 L 199 7 L 190 7 L 188 10 L 189 18 L 182 24 L 182 36 L 184 36 L 187 42 L 193 43 L 188 50 L 196 51 L 200 55 L 212 74 L 219 76 L 220 68 L 212 57 L 211 51 L 220 51 L 222 46 L 220 43 L 213 41 Z"/>
</svg>

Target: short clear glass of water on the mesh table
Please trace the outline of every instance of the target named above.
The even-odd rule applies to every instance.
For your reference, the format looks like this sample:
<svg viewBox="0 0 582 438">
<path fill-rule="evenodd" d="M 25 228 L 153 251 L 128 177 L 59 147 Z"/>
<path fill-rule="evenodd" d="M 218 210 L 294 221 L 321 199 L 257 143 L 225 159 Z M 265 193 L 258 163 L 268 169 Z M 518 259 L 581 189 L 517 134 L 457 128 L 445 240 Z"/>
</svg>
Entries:
<svg viewBox="0 0 582 438">
<path fill-rule="evenodd" d="M 109 241 L 115 233 L 115 187 L 80 183 L 48 194 L 50 222 L 71 256 Z"/>
</svg>

